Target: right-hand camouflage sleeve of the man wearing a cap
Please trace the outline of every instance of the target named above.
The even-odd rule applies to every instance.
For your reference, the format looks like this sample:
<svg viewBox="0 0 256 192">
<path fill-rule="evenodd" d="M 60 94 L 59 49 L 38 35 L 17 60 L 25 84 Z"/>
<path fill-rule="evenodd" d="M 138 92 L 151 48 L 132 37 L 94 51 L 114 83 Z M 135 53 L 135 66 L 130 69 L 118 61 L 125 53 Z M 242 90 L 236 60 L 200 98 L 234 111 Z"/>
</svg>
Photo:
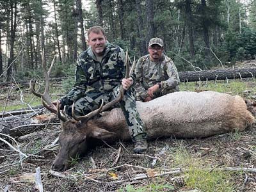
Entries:
<svg viewBox="0 0 256 192">
<path fill-rule="evenodd" d="M 162 81 L 162 88 L 175 88 L 180 83 L 179 74 L 172 60 L 166 62 L 166 73 L 169 77 L 166 81 Z"/>
</svg>

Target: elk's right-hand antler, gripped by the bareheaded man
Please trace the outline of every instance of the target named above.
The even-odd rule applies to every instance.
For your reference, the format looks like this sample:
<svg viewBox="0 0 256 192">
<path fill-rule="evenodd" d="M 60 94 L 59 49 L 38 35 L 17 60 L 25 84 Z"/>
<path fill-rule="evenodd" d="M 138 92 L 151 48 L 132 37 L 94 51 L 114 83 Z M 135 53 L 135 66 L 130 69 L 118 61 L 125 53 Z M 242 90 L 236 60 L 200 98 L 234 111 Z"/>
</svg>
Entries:
<svg viewBox="0 0 256 192">
<path fill-rule="evenodd" d="M 126 56 L 125 56 L 125 68 L 126 68 L 125 79 L 128 79 L 131 76 L 131 73 L 132 73 L 132 71 L 130 72 L 130 65 L 129 65 L 128 60 L 129 60 L 129 56 L 128 56 L 128 49 L 127 49 Z M 134 68 L 134 65 L 135 65 L 135 58 L 134 58 L 134 61 L 132 63 L 132 68 Z M 72 116 L 73 116 L 73 118 L 75 118 L 76 120 L 83 120 L 83 122 L 87 122 L 93 116 L 99 114 L 102 111 L 106 111 L 107 109 L 111 108 L 116 103 L 118 103 L 120 100 L 122 100 L 123 97 L 124 97 L 124 88 L 123 88 L 122 85 L 120 86 L 119 90 L 120 90 L 120 94 L 118 95 L 118 97 L 116 97 L 116 99 L 111 100 L 111 102 L 108 102 L 104 106 L 103 106 L 103 100 L 102 100 L 102 104 L 101 104 L 99 109 L 96 109 L 96 110 L 94 110 L 94 111 L 92 111 L 92 112 L 90 112 L 90 113 L 88 113 L 87 115 L 84 115 L 84 116 L 76 116 L 75 115 L 75 113 L 74 113 L 74 104 L 73 104 L 73 106 L 72 106 Z"/>
</svg>

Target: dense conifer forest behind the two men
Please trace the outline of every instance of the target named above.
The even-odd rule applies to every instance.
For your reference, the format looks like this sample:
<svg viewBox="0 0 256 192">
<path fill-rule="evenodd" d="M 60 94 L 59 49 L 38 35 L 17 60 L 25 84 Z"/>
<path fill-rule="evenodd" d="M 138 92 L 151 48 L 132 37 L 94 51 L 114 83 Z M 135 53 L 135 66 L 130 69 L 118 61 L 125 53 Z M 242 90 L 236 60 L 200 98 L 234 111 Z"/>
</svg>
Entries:
<svg viewBox="0 0 256 192">
<path fill-rule="evenodd" d="M 93 25 L 137 59 L 150 38 L 163 38 L 179 71 L 230 67 L 256 54 L 256 1 L 0 0 L 0 81 L 41 77 L 43 49 L 47 63 L 57 56 L 52 76 L 74 78 Z"/>
</svg>

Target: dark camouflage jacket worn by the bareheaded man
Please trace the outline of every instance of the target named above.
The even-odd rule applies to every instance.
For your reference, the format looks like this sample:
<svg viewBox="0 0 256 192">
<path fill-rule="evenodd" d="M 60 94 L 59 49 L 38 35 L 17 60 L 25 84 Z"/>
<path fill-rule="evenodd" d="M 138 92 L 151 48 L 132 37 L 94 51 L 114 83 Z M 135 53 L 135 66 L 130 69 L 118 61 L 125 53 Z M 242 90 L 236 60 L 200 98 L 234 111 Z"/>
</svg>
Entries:
<svg viewBox="0 0 256 192">
<path fill-rule="evenodd" d="M 125 53 L 120 47 L 107 43 L 101 63 L 89 47 L 82 52 L 76 64 L 76 81 L 70 92 L 60 99 L 63 106 L 70 105 L 87 92 L 109 93 L 125 77 Z"/>
</svg>

